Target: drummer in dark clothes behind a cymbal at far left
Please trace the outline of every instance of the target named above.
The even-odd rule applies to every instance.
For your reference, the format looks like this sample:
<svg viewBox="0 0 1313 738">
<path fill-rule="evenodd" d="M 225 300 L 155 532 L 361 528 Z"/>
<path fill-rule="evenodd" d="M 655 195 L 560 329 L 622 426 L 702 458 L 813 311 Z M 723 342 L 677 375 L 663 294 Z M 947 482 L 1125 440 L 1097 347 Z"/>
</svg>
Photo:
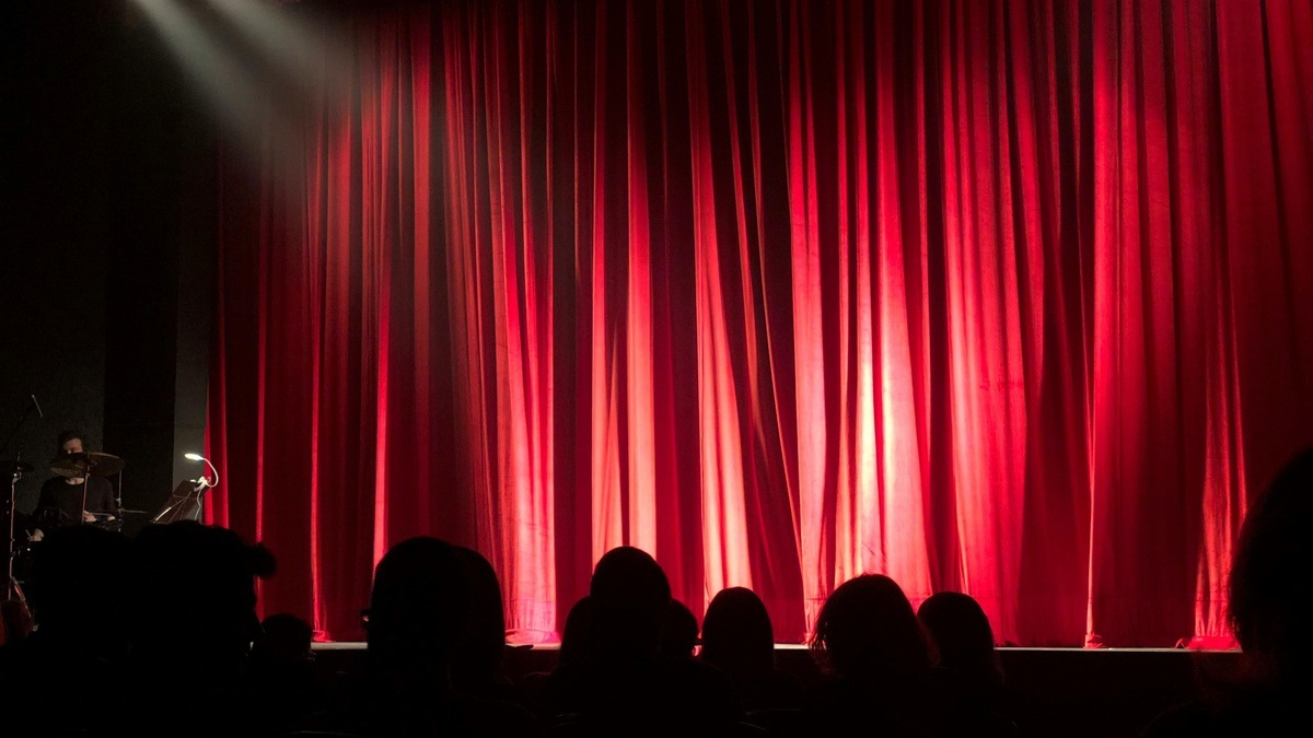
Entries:
<svg viewBox="0 0 1313 738">
<path fill-rule="evenodd" d="M 123 467 L 122 460 L 88 453 L 80 431 L 63 431 L 56 443 L 58 452 L 50 461 L 55 475 L 41 486 L 41 498 L 33 511 L 33 541 L 66 525 L 118 520 L 114 486 L 108 477 Z"/>
</svg>

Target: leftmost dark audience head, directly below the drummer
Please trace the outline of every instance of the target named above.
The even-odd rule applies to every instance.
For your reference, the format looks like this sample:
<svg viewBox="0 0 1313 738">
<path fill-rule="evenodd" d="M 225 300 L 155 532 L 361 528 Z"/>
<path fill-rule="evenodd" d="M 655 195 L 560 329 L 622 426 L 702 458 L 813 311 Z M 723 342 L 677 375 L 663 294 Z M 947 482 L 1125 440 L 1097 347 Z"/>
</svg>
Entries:
<svg viewBox="0 0 1313 738">
<path fill-rule="evenodd" d="M 49 637 L 123 640 L 130 540 L 93 525 L 53 531 L 33 554 L 28 604 Z"/>
</svg>

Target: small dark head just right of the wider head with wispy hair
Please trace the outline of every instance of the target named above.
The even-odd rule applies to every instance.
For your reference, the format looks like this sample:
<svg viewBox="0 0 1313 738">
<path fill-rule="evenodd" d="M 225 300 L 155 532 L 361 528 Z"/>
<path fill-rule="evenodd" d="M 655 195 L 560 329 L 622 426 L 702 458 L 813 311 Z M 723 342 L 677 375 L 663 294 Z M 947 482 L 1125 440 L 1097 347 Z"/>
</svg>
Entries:
<svg viewBox="0 0 1313 738">
<path fill-rule="evenodd" d="M 976 597 L 965 592 L 935 592 L 920 603 L 916 617 L 939 651 L 940 666 L 1002 682 L 994 629 Z"/>
</svg>

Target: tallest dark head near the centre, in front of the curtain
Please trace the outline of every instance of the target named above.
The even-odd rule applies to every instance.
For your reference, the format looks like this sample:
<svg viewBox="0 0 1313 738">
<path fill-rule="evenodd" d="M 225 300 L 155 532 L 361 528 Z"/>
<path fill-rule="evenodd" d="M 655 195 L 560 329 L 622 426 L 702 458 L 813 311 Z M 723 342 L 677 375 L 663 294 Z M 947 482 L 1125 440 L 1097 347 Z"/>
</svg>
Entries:
<svg viewBox="0 0 1313 738">
<path fill-rule="evenodd" d="M 633 546 L 611 549 L 593 567 L 588 595 L 600 647 L 614 655 L 656 653 L 670 603 L 670 582 L 656 559 Z"/>
</svg>

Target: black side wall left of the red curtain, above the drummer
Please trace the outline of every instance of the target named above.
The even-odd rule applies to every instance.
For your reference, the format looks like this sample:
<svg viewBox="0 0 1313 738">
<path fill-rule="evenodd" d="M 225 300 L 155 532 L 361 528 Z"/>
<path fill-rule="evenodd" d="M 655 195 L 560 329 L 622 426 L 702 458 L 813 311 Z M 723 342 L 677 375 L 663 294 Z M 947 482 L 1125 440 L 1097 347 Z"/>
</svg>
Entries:
<svg viewBox="0 0 1313 738">
<path fill-rule="evenodd" d="M 210 134 L 129 3 L 4 3 L 0 34 L 0 460 L 35 465 L 30 511 L 55 436 L 81 429 L 125 462 L 131 531 L 198 471 Z"/>
</svg>

